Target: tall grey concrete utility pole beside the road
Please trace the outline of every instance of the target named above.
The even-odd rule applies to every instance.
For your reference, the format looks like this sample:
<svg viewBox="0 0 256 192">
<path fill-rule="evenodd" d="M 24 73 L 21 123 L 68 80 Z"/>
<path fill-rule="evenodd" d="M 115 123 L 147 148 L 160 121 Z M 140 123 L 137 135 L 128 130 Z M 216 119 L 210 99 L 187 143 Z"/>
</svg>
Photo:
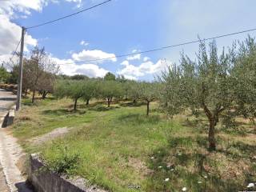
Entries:
<svg viewBox="0 0 256 192">
<path fill-rule="evenodd" d="M 21 53 L 19 55 L 19 69 L 18 69 L 18 93 L 16 101 L 16 110 L 21 109 L 22 102 L 22 70 L 23 70 L 23 49 L 24 49 L 24 36 L 26 28 L 22 26 L 22 40 L 21 40 Z"/>
</svg>

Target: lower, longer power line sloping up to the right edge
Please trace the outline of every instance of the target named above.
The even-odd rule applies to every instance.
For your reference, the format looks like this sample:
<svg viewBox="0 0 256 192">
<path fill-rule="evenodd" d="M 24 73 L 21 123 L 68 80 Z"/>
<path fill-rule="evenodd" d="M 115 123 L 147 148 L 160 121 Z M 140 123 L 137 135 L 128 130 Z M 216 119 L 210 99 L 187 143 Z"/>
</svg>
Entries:
<svg viewBox="0 0 256 192">
<path fill-rule="evenodd" d="M 133 56 L 133 55 L 136 55 L 136 54 L 146 54 L 146 53 L 150 53 L 150 52 L 154 52 L 154 51 L 158 51 L 158 50 L 166 50 L 166 49 L 170 49 L 170 48 L 173 48 L 173 47 L 176 47 L 176 46 L 186 46 L 186 45 L 194 44 L 194 43 L 197 43 L 197 42 L 200 42 L 200 41 L 209 41 L 209 40 L 213 40 L 213 39 L 216 39 L 216 38 L 225 38 L 225 37 L 232 36 L 232 35 L 235 35 L 235 34 L 244 34 L 244 33 L 250 32 L 250 31 L 254 31 L 254 30 L 256 30 L 256 28 L 250 29 L 250 30 L 242 30 L 242 31 L 231 33 L 231 34 L 222 34 L 222 35 L 218 35 L 218 36 L 215 36 L 215 37 L 212 37 L 212 38 L 205 38 L 203 40 L 198 39 L 198 40 L 195 40 L 195 41 L 182 42 L 182 43 L 171 45 L 171 46 L 162 46 L 162 47 L 155 48 L 155 49 L 152 49 L 152 50 L 144 50 L 144 51 L 139 51 L 139 52 L 132 53 L 132 54 L 119 54 L 117 56 L 109 57 L 109 58 L 98 58 L 98 59 L 84 60 L 84 61 L 79 61 L 79 62 L 66 62 L 66 63 L 60 63 L 58 65 L 68 65 L 68 64 L 73 64 L 73 63 L 78 64 L 78 63 L 83 63 L 83 62 L 99 62 L 99 61 L 104 61 L 104 60 L 110 60 L 110 59 L 113 59 L 113 58 L 124 58 L 124 57 L 128 57 L 128 56 Z"/>
</svg>

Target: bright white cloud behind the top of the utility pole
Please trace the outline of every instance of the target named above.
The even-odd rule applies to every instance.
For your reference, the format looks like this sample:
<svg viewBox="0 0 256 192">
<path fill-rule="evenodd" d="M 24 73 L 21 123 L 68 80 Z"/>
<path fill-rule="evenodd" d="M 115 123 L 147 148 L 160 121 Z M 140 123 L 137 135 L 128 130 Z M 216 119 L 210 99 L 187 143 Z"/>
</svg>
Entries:
<svg viewBox="0 0 256 192">
<path fill-rule="evenodd" d="M 13 18 L 26 18 L 31 14 L 31 10 L 41 11 L 43 6 L 53 0 L 12 0 L 1 1 L 0 3 L 0 62 L 9 62 L 11 54 L 16 49 L 22 36 L 22 28 L 11 22 Z M 38 41 L 31 35 L 25 35 L 24 50 L 28 51 L 29 46 L 36 46 Z M 18 51 L 20 46 L 18 47 Z M 17 62 L 17 57 L 14 57 Z"/>
</svg>

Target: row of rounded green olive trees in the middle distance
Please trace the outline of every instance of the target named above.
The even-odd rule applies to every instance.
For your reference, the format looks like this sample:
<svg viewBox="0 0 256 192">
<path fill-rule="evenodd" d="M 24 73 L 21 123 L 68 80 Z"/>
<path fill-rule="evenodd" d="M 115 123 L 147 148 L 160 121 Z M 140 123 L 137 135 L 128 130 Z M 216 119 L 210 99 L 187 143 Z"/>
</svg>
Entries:
<svg viewBox="0 0 256 192">
<path fill-rule="evenodd" d="M 108 78 L 112 76 L 112 78 Z M 150 113 L 150 102 L 159 97 L 157 82 L 135 82 L 124 78 L 115 79 L 114 74 L 106 74 L 101 79 L 84 80 L 58 80 L 54 88 L 54 95 L 57 98 L 70 98 L 74 101 L 74 110 L 77 110 L 78 99 L 89 102 L 92 98 L 103 99 L 107 106 L 113 100 L 132 100 L 134 103 L 138 100 L 146 102 L 146 114 Z"/>
</svg>

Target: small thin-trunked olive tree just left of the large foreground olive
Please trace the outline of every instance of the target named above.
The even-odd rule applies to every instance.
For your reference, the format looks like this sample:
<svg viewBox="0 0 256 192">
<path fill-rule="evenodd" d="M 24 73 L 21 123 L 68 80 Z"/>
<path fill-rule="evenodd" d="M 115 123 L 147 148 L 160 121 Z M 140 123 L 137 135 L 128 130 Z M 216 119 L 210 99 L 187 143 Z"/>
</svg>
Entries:
<svg viewBox="0 0 256 192">
<path fill-rule="evenodd" d="M 146 115 L 150 114 L 150 102 L 158 98 L 158 83 L 156 82 L 139 82 L 138 98 L 146 101 Z"/>
</svg>

